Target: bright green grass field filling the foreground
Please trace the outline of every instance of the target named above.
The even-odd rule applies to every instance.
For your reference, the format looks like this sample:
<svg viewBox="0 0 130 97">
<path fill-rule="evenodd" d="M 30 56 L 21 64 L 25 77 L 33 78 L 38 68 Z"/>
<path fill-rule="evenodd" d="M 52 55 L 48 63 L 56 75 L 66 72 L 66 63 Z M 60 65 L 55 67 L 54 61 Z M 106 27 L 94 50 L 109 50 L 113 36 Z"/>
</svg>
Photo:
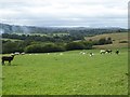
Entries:
<svg viewBox="0 0 130 97">
<path fill-rule="evenodd" d="M 3 95 L 127 95 L 128 52 L 17 55 L 3 66 Z M 90 57 L 89 53 L 94 56 Z M 8 64 L 6 64 L 8 65 Z"/>
</svg>

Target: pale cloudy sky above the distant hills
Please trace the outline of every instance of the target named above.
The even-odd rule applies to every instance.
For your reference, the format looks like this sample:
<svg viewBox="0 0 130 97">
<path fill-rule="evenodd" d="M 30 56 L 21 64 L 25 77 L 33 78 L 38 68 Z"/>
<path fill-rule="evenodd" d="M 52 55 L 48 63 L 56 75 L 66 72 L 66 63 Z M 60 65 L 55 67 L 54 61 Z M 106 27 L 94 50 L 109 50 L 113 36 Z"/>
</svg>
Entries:
<svg viewBox="0 0 130 97">
<path fill-rule="evenodd" d="M 126 27 L 129 0 L 0 0 L 0 23 Z"/>
</svg>

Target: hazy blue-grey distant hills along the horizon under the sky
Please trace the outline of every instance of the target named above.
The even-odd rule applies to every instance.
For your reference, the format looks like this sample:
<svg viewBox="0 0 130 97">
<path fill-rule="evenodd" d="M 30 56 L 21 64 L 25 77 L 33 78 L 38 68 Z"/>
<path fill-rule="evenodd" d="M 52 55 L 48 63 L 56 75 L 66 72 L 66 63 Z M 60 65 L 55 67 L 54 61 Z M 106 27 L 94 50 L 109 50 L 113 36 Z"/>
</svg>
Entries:
<svg viewBox="0 0 130 97">
<path fill-rule="evenodd" d="M 0 33 L 62 33 L 66 32 L 72 36 L 95 36 L 102 33 L 125 32 L 122 28 L 87 28 L 87 27 L 35 27 L 17 26 L 0 23 Z"/>
</svg>

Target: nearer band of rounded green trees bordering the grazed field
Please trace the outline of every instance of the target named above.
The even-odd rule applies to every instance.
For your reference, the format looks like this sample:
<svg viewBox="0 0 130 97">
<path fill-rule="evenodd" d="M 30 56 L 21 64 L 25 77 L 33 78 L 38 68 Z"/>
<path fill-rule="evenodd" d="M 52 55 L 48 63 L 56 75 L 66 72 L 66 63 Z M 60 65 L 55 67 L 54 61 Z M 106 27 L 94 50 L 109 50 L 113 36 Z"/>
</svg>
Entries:
<svg viewBox="0 0 130 97">
<path fill-rule="evenodd" d="M 73 50 L 91 50 L 93 45 L 110 44 L 110 38 L 103 38 L 99 41 L 76 41 L 76 42 L 39 42 L 32 40 L 4 41 L 2 40 L 2 53 L 26 52 L 26 53 L 51 53 Z"/>
</svg>

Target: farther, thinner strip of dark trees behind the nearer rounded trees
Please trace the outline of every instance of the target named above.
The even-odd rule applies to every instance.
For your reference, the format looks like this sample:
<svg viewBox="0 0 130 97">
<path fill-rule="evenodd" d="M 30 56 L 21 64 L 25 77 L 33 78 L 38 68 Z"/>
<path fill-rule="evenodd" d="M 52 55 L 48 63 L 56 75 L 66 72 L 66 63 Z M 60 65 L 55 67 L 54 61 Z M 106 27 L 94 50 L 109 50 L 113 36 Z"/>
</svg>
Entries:
<svg viewBox="0 0 130 97">
<path fill-rule="evenodd" d="M 69 42 L 76 40 L 83 40 L 82 36 L 40 36 L 40 34 L 9 34 L 2 33 L 2 38 L 5 39 L 17 39 L 17 40 L 31 40 L 31 41 L 40 41 L 40 42 Z"/>
</svg>

